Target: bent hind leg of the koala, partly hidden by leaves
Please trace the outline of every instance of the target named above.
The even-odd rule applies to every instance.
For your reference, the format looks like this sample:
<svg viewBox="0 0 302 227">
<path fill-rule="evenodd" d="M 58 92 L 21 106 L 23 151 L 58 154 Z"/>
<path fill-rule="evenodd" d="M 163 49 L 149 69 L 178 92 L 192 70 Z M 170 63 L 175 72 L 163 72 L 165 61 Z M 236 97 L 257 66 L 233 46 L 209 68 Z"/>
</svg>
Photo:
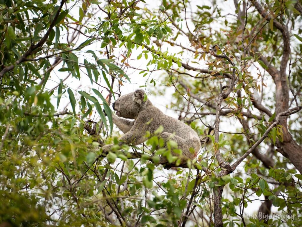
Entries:
<svg viewBox="0 0 302 227">
<path fill-rule="evenodd" d="M 191 146 L 187 140 L 184 140 L 181 137 L 178 137 L 176 135 L 173 135 L 172 133 L 167 133 L 167 132 L 162 133 L 160 137 L 164 140 L 165 146 L 169 140 L 173 140 L 178 144 L 178 149 L 182 150 L 182 156 L 180 157 L 180 159 L 181 159 L 180 165 L 185 164 L 188 159 L 195 158 L 195 154 L 190 151 Z M 174 152 L 171 152 L 171 153 L 173 156 L 179 156 L 178 154 L 176 154 Z M 164 166 L 168 167 L 167 169 L 169 169 L 169 162 L 166 159 L 166 157 L 161 156 L 160 160 L 159 160 L 159 164 L 163 164 Z"/>
</svg>

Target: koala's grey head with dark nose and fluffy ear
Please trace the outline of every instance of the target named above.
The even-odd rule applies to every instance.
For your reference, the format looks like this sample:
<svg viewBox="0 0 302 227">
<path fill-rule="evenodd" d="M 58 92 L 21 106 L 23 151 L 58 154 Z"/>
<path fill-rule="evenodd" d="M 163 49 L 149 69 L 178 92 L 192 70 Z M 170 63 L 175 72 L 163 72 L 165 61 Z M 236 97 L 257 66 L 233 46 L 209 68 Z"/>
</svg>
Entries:
<svg viewBox="0 0 302 227">
<path fill-rule="evenodd" d="M 147 99 L 144 101 L 144 90 L 138 89 L 126 95 L 119 97 L 112 107 L 116 110 L 116 115 L 119 117 L 136 119 L 141 110 L 145 109 L 152 103 Z"/>
</svg>

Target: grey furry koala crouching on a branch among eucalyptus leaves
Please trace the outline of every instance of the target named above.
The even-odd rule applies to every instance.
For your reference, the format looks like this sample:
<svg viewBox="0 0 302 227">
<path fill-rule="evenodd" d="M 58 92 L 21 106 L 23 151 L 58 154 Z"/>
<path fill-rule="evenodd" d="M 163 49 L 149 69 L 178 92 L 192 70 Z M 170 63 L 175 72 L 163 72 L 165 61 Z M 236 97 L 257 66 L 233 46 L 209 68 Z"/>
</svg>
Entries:
<svg viewBox="0 0 302 227">
<path fill-rule="evenodd" d="M 144 101 L 144 94 L 145 92 L 139 89 L 119 97 L 112 104 L 117 115 L 112 114 L 113 123 L 125 133 L 120 138 L 119 145 L 141 144 L 147 140 L 144 137 L 146 131 L 154 133 L 159 126 L 162 126 L 163 131 L 160 138 L 164 140 L 165 145 L 169 140 L 173 140 L 177 142 L 178 149 L 182 150 L 182 156 L 179 157 L 181 159 L 180 166 L 184 165 L 188 159 L 194 159 L 201 147 L 197 133 L 182 121 L 162 113 L 153 106 L 149 99 Z M 103 152 L 108 152 L 111 146 L 103 146 Z M 173 152 L 172 155 L 179 156 Z M 164 156 L 160 157 L 159 164 L 164 165 L 167 169 L 175 166 L 173 163 L 171 165 Z"/>
</svg>

